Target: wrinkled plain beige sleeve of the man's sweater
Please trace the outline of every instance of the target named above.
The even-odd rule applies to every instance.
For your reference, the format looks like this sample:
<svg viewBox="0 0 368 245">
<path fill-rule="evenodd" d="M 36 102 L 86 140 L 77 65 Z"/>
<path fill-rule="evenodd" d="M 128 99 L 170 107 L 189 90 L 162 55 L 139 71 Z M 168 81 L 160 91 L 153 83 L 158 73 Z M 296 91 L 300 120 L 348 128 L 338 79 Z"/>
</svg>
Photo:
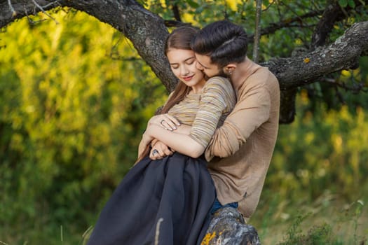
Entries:
<svg viewBox="0 0 368 245">
<path fill-rule="evenodd" d="M 270 116 L 271 95 L 264 85 L 240 90 L 238 102 L 224 121 L 224 125 L 214 132 L 205 150 L 207 161 L 214 156 L 226 158 L 245 144 L 250 134 L 265 123 Z"/>
</svg>

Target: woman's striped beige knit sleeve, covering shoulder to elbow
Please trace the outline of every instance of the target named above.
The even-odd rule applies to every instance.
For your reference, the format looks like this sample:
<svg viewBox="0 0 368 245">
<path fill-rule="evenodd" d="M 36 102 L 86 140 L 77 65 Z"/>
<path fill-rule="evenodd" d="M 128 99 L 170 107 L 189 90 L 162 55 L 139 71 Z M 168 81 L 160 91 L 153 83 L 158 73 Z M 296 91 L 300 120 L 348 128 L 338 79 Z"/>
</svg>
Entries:
<svg viewBox="0 0 368 245">
<path fill-rule="evenodd" d="M 223 114 L 235 104 L 235 92 L 226 78 L 207 80 L 200 97 L 199 110 L 191 127 L 190 137 L 206 148 Z"/>
</svg>

